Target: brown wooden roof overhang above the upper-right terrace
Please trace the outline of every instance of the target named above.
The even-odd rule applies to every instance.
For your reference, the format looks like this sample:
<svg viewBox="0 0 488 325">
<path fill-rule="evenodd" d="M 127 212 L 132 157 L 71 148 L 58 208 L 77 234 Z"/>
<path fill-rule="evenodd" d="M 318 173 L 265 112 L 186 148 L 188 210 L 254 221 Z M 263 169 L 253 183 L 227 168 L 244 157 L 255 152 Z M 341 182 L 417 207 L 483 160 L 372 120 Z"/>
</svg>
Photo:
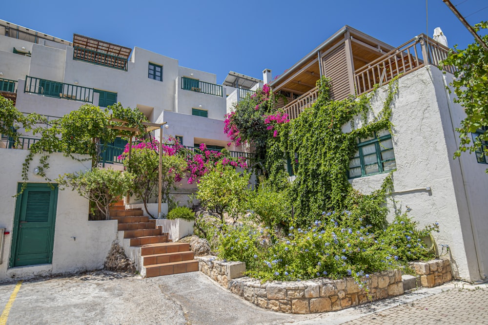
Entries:
<svg viewBox="0 0 488 325">
<path fill-rule="evenodd" d="M 285 73 L 270 82 L 273 91 L 284 90 L 304 94 L 315 88 L 315 83 L 320 76 L 327 75 L 324 66 L 319 64 L 319 58 L 322 61 L 327 54 L 345 42 L 349 46 L 346 56 L 351 61 L 350 72 L 354 72 L 393 49 L 393 46 L 346 25 L 310 51 Z"/>
</svg>

